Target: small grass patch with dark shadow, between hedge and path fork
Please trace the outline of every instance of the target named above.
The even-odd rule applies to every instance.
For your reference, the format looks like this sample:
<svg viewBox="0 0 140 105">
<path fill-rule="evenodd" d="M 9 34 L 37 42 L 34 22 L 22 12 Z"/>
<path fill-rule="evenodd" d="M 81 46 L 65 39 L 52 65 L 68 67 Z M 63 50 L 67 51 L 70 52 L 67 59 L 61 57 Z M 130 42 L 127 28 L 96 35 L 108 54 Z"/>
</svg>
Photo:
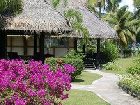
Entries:
<svg viewBox="0 0 140 105">
<path fill-rule="evenodd" d="M 78 85 L 91 85 L 93 81 L 100 79 L 102 76 L 99 74 L 89 73 L 83 71 L 81 76 L 76 78 L 72 83 Z"/>
</svg>

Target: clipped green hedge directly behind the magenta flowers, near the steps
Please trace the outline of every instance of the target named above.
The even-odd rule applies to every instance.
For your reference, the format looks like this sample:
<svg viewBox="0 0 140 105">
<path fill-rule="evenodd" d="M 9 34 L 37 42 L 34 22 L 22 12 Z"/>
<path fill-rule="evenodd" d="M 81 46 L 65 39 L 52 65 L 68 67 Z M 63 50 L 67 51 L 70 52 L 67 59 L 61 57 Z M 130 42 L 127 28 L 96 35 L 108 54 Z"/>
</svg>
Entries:
<svg viewBox="0 0 140 105">
<path fill-rule="evenodd" d="M 79 58 L 47 58 L 46 63 L 49 64 L 53 70 L 55 70 L 58 60 L 65 64 L 71 64 L 76 68 L 76 71 L 72 74 L 72 79 L 75 79 L 84 70 L 83 60 Z"/>
</svg>

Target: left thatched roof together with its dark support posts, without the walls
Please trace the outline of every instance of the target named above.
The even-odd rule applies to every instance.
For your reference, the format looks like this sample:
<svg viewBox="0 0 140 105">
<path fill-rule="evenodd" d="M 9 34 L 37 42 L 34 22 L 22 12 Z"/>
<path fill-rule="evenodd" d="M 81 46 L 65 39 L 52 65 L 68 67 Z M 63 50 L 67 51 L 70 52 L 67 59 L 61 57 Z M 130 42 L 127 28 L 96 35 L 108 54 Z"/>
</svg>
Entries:
<svg viewBox="0 0 140 105">
<path fill-rule="evenodd" d="M 50 5 L 41 0 L 23 0 L 22 13 L 16 17 L 1 16 L 0 58 L 7 58 L 7 35 L 34 37 L 34 57 L 44 61 L 44 38 L 69 34 L 68 21 Z M 39 42 L 37 41 L 39 40 Z M 26 44 L 26 43 L 25 43 Z M 39 45 L 39 50 L 37 46 Z M 24 50 L 26 55 L 27 49 Z"/>
</svg>

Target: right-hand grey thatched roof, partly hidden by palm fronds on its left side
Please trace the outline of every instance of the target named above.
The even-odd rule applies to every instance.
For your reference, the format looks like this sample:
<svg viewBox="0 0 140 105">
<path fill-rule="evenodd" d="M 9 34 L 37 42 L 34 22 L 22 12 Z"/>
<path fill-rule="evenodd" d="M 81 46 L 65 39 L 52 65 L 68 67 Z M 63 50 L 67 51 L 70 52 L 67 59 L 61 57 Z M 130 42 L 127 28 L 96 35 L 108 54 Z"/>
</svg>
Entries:
<svg viewBox="0 0 140 105">
<path fill-rule="evenodd" d="M 86 7 L 86 3 L 87 0 L 68 0 L 68 4 L 63 11 L 68 9 L 80 11 L 83 15 L 83 24 L 87 27 L 90 38 L 117 38 L 116 31 L 107 22 L 99 19 L 95 13 L 90 12 Z M 62 11 L 61 8 L 59 10 Z M 73 35 L 73 37 L 76 36 Z"/>
</svg>

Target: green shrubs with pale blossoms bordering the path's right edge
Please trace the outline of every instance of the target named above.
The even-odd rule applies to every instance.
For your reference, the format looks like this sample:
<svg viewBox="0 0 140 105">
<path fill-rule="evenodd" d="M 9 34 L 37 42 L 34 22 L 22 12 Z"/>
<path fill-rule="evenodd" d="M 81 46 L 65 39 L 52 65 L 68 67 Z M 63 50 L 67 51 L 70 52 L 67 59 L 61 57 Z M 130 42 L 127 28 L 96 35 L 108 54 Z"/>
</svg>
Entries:
<svg viewBox="0 0 140 105">
<path fill-rule="evenodd" d="M 138 61 L 136 60 L 136 65 L 130 67 L 127 74 L 122 76 L 119 86 L 127 93 L 140 99 L 140 66 Z"/>
</svg>

